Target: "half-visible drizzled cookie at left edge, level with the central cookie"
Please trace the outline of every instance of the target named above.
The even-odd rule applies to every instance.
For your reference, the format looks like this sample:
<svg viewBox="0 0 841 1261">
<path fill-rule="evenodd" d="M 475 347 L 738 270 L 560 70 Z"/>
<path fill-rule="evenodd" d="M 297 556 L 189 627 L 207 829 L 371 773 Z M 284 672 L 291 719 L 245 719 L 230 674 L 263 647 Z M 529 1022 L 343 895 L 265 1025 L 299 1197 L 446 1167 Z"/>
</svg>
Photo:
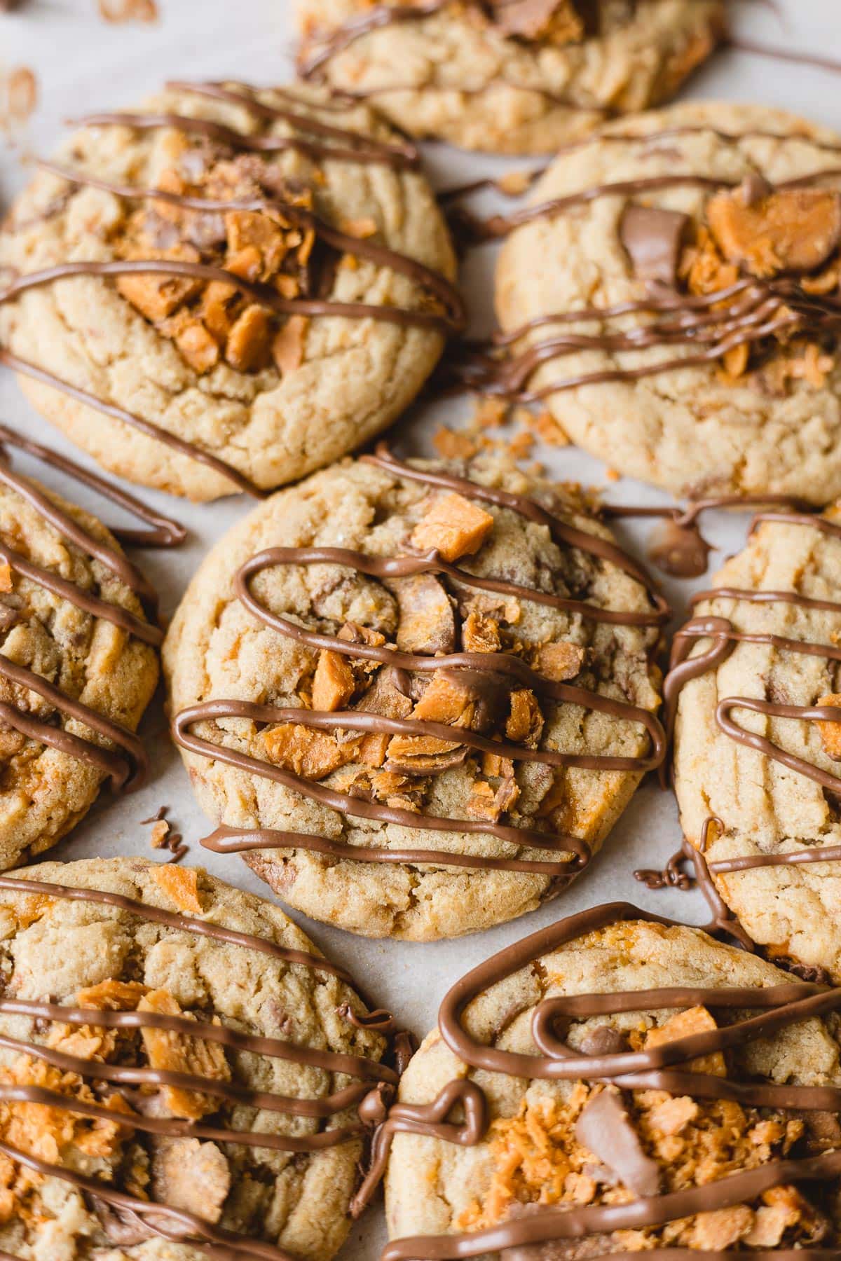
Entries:
<svg viewBox="0 0 841 1261">
<path fill-rule="evenodd" d="M 3 870 L 71 831 L 105 783 L 129 792 L 144 782 L 148 759 L 134 733 L 155 691 L 163 639 L 155 593 L 111 531 L 18 473 L 6 446 L 145 514 L 153 530 L 144 540 L 183 538 L 174 522 L 0 426 Z"/>
</svg>

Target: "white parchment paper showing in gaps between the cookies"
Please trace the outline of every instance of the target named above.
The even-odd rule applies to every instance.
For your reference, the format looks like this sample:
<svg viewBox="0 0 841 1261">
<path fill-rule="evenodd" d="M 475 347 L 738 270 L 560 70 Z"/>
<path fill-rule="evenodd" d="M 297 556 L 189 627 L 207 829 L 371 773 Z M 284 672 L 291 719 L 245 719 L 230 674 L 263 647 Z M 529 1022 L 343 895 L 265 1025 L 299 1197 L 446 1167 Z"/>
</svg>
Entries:
<svg viewBox="0 0 841 1261">
<path fill-rule="evenodd" d="M 779 0 L 777 13 L 762 0 L 731 0 L 731 4 L 734 25 L 745 37 L 792 50 L 841 57 L 841 0 Z M 129 25 L 102 21 L 96 0 L 29 0 L 19 11 L 0 13 L 0 77 L 4 69 L 25 66 L 35 72 L 39 83 L 38 110 L 25 131 L 15 137 L 16 144 L 4 145 L 0 134 L 0 211 L 28 178 L 21 159 L 25 161 L 26 153 L 49 153 L 68 117 L 132 105 L 168 77 L 231 76 L 266 84 L 289 77 L 294 38 L 291 0 L 237 0 L 235 4 L 231 0 L 159 0 L 159 8 L 158 23 Z M 769 103 L 841 130 L 841 77 L 807 66 L 783 64 L 730 50 L 721 53 L 692 81 L 687 95 Z M 506 163 L 465 155 L 443 145 L 426 146 L 426 154 L 438 187 L 506 166 L 532 165 L 522 159 Z M 490 204 L 488 200 L 487 206 Z M 493 248 L 477 250 L 464 267 L 477 330 L 485 329 L 490 319 L 493 256 Z M 429 435 L 440 420 L 455 419 L 464 410 L 458 402 L 416 410 L 410 424 L 400 429 L 401 451 L 427 453 Z M 0 417 L 68 454 L 78 454 L 32 411 L 10 373 L 3 369 Z M 606 497 L 613 501 L 654 503 L 667 499 L 627 479 L 606 482 L 604 464 L 581 451 L 538 446 L 535 456 L 559 478 L 604 485 Z M 81 459 L 86 462 L 86 456 Z M 26 460 L 16 458 L 16 465 L 33 468 L 35 475 L 42 475 Z M 68 489 L 52 472 L 44 474 L 44 480 L 57 489 Z M 209 545 L 250 511 L 251 502 L 240 497 L 192 506 L 148 491 L 140 493 L 190 530 L 189 542 L 178 551 L 135 554 L 161 591 L 163 610 L 169 615 Z M 69 489 L 69 494 L 106 521 L 113 520 L 113 513 L 83 489 Z M 721 555 L 741 546 L 746 520 L 719 513 L 705 523 L 707 538 L 719 549 L 712 557 L 714 565 Z M 625 541 L 638 554 L 642 554 L 644 533 L 644 528 L 625 532 Z M 693 586 L 700 585 L 706 584 L 664 583 L 678 617 Z M 180 758 L 165 738 L 161 697 L 148 714 L 144 731 L 154 760 L 150 783 L 121 801 L 105 794 L 87 821 L 53 851 L 53 856 L 149 855 L 149 827 L 140 821 L 165 805 L 190 845 L 185 861 L 202 863 L 242 888 L 267 894 L 266 886 L 237 857 L 206 854 L 198 847 L 208 826 L 193 801 Z M 464 971 L 569 912 L 623 898 L 688 922 L 704 922 L 705 907 L 699 894 L 649 893 L 633 878 L 634 868 L 661 866 L 678 840 L 673 799 L 649 779 L 584 879 L 562 899 L 512 924 L 458 942 L 417 946 L 366 941 L 293 914 L 329 956 L 361 979 L 378 1004 L 391 1008 L 401 1021 L 422 1035 L 432 1026 L 446 989 Z M 373 1261 L 383 1241 L 382 1207 L 377 1204 L 354 1226 L 342 1261 Z"/>
</svg>

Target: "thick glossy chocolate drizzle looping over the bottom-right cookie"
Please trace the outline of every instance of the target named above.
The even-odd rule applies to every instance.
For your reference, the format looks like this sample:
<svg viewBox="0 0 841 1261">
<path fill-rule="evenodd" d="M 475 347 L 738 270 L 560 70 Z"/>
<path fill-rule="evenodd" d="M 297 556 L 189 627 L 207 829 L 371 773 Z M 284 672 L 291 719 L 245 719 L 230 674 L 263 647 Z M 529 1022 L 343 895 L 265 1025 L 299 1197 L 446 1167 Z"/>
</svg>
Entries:
<svg viewBox="0 0 841 1261">
<path fill-rule="evenodd" d="M 444 999 L 439 1011 L 439 1029 L 446 1045 L 469 1068 L 488 1073 L 504 1073 L 526 1079 L 604 1082 L 623 1090 L 662 1090 L 671 1095 L 688 1095 L 693 1098 L 735 1100 L 746 1106 L 770 1108 L 797 1108 L 804 1111 L 837 1111 L 841 1091 L 837 1087 L 779 1086 L 770 1082 L 733 1082 L 726 1078 L 695 1072 L 688 1064 L 700 1055 L 743 1045 L 758 1038 L 767 1038 L 782 1029 L 813 1016 L 825 1016 L 841 1008 L 841 990 L 822 985 L 772 985 L 748 989 L 710 989 L 706 986 L 676 986 L 653 990 L 632 990 L 614 994 L 576 994 L 548 997 L 540 1002 L 532 1015 L 532 1037 L 541 1052 L 526 1055 L 501 1050 L 477 1042 L 463 1024 L 470 1004 L 494 985 L 527 967 L 559 947 L 598 932 L 610 924 L 629 921 L 673 926 L 673 921 L 648 914 L 628 903 L 595 907 L 543 928 L 518 944 L 501 951 L 493 958 L 473 968 Z M 570 1020 L 584 1020 L 595 1015 L 642 1013 L 658 1009 L 686 1009 L 705 1005 L 712 1010 L 748 1009 L 757 1014 L 740 1016 L 734 1024 L 691 1034 L 675 1042 L 662 1043 L 648 1050 L 612 1054 L 581 1054 L 564 1040 L 564 1030 Z M 382 1171 L 391 1141 L 391 1134 L 403 1131 L 427 1134 L 430 1110 L 445 1120 L 456 1102 L 468 1103 L 477 1083 L 467 1079 L 451 1082 L 432 1105 L 400 1105 L 400 1126 L 382 1124 L 383 1137 L 374 1137 L 378 1170 Z M 480 1092 L 482 1093 L 482 1092 Z M 446 1111 L 444 1111 L 446 1105 Z M 472 1103 L 473 1115 L 479 1113 Z M 396 1110 L 392 1110 L 392 1112 Z M 467 1113 L 465 1116 L 469 1116 Z M 485 1111 L 487 1116 L 487 1111 Z M 444 1141 L 456 1139 L 439 1127 L 435 1137 Z M 467 1129 L 467 1126 L 465 1126 Z M 487 1129 L 487 1126 L 485 1126 Z M 463 1130 L 460 1131 L 464 1132 Z M 483 1135 L 473 1139 L 480 1141 Z M 381 1261 L 456 1261 L 456 1258 L 504 1252 L 506 1248 L 535 1246 L 554 1240 L 581 1240 L 585 1236 L 604 1235 L 618 1229 L 646 1228 L 664 1224 L 696 1213 L 726 1208 L 750 1202 L 765 1190 L 786 1183 L 826 1182 L 841 1175 L 841 1151 L 818 1156 L 774 1160 L 743 1173 L 720 1178 L 712 1183 L 691 1187 L 666 1194 L 638 1197 L 629 1203 L 613 1206 L 567 1207 L 538 1209 L 531 1216 L 503 1222 L 485 1229 L 438 1236 L 415 1236 L 392 1241 L 382 1252 Z M 663 1257 L 683 1256 L 686 1250 L 654 1248 Z M 784 1256 L 788 1250 L 767 1252 L 770 1258 Z M 837 1250 L 827 1250 L 835 1256 Z M 608 1256 L 625 1256 L 622 1250 Z M 635 1255 L 635 1253 L 634 1253 Z M 697 1253 L 692 1253 L 697 1255 Z M 705 1256 L 731 1256 L 704 1253 Z M 753 1253 L 763 1256 L 763 1252 Z M 811 1250 L 807 1255 L 812 1255 Z M 792 1252 L 794 1256 L 794 1252 Z"/>
</svg>

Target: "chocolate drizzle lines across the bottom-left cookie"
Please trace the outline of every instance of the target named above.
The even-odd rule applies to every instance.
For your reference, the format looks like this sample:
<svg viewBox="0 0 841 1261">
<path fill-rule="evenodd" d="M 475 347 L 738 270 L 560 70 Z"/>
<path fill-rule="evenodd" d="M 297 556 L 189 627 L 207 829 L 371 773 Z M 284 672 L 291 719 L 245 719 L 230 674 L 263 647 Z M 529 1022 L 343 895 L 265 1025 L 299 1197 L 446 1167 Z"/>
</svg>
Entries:
<svg viewBox="0 0 841 1261">
<path fill-rule="evenodd" d="M 347 985 L 352 985 L 352 979 L 340 968 L 327 960 L 306 951 L 290 950 L 262 937 L 237 929 L 226 928 L 206 919 L 168 912 L 159 907 L 151 907 L 142 902 L 136 902 L 122 894 L 110 893 L 102 889 L 84 889 L 73 885 L 52 884 L 43 880 L 15 879 L 14 876 L 0 876 L 0 889 L 10 893 L 33 894 L 45 899 L 68 899 L 95 905 L 112 907 L 121 912 L 137 915 L 150 923 L 161 924 L 164 928 L 175 932 L 188 932 L 207 937 L 212 941 L 235 944 L 245 950 L 258 951 L 279 962 L 303 966 L 315 972 L 324 972 L 337 977 Z M 366 1016 L 353 1016 L 348 1004 L 349 1023 L 357 1028 L 383 1029 L 391 1031 L 383 1016 L 387 1013 L 372 1014 L 374 1019 Z M 319 1151 L 337 1146 L 362 1135 L 371 1122 L 367 1119 L 364 1102 L 373 1093 L 377 1100 L 388 1100 L 393 1093 L 398 1081 L 398 1074 L 387 1064 L 378 1063 L 363 1055 L 339 1054 L 318 1048 L 299 1045 L 277 1038 L 258 1037 L 256 1034 L 242 1033 L 228 1029 L 222 1024 L 211 1023 L 202 1019 L 193 1019 L 188 1015 L 165 1015 L 155 1011 L 115 1011 L 97 1010 L 95 1008 L 63 1006 L 61 1004 L 37 1001 L 29 999 L 0 997 L 0 1015 L 28 1016 L 32 1020 L 44 1023 L 59 1023 L 79 1026 L 93 1026 L 105 1029 L 161 1029 L 169 1033 L 213 1042 L 231 1050 L 245 1052 L 252 1055 L 266 1055 L 284 1059 L 289 1063 L 319 1068 L 328 1073 L 340 1073 L 357 1078 L 356 1083 L 342 1087 L 334 1093 L 323 1098 L 299 1098 L 274 1092 L 255 1091 L 235 1082 L 217 1081 L 204 1074 L 171 1072 L 154 1068 L 135 1068 L 125 1064 L 108 1064 L 100 1061 L 83 1059 L 77 1055 L 59 1052 L 54 1048 L 25 1039 L 11 1038 L 0 1034 L 0 1048 L 8 1052 L 29 1055 L 44 1063 L 52 1064 L 62 1072 L 76 1073 L 83 1078 L 97 1082 L 108 1082 L 116 1087 L 174 1087 L 187 1091 L 198 1091 L 202 1095 L 211 1095 L 219 1100 L 245 1105 L 253 1108 L 265 1108 L 274 1112 L 284 1112 L 290 1116 L 316 1117 L 330 1121 L 349 1107 L 358 1107 L 359 1121 L 340 1127 L 320 1130 L 318 1134 L 293 1136 L 272 1132 L 256 1132 L 252 1130 L 235 1130 L 219 1126 L 200 1125 L 192 1121 L 182 1121 L 170 1117 L 144 1116 L 134 1111 L 115 1112 L 100 1103 L 76 1100 L 55 1091 L 44 1090 L 37 1086 L 8 1086 L 0 1084 L 0 1100 L 20 1103 L 38 1103 L 53 1108 L 62 1108 L 77 1116 L 91 1116 L 107 1121 L 119 1120 L 126 1129 L 158 1134 L 165 1136 L 190 1136 L 209 1139 L 216 1142 L 235 1142 L 243 1146 L 264 1148 L 275 1151 Z M 377 1023 L 378 1021 L 378 1023 Z M 131 1092 L 127 1101 L 131 1102 Z M 369 1108 L 368 1108 L 369 1110 Z M 136 1213 L 141 1222 L 161 1238 L 189 1241 L 212 1257 L 229 1258 L 265 1258 L 265 1261 L 295 1261 L 295 1258 L 282 1248 L 262 1243 L 256 1240 L 247 1240 L 231 1231 L 214 1227 L 200 1217 L 192 1213 L 170 1208 L 150 1200 L 141 1200 L 136 1197 L 117 1192 L 95 1178 L 86 1178 L 71 1169 L 61 1165 L 42 1161 L 35 1156 L 13 1148 L 6 1142 L 0 1142 L 0 1151 L 18 1164 L 45 1178 L 58 1178 L 86 1193 L 96 1195 L 106 1204 L 116 1206 Z M 219 1248 L 222 1251 L 219 1251 Z"/>
</svg>

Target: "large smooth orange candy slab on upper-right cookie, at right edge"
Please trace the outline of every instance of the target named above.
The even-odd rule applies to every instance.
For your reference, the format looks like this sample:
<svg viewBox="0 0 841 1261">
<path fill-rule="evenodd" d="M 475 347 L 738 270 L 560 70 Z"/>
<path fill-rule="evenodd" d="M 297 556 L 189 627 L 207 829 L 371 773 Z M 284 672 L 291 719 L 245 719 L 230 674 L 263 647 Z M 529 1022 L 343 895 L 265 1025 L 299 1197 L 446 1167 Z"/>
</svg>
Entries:
<svg viewBox="0 0 841 1261">
<path fill-rule="evenodd" d="M 816 271 L 841 241 L 841 194 L 786 188 L 748 204 L 743 189 L 707 203 L 707 222 L 724 257 L 754 276 Z"/>
</svg>

